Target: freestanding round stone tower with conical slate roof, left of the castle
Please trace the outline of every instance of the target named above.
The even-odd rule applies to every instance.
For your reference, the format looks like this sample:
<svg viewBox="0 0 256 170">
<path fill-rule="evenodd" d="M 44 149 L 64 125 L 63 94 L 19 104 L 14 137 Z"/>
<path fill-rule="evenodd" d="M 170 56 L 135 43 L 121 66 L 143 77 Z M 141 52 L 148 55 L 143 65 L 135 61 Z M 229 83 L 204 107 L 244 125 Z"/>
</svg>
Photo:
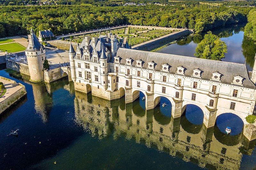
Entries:
<svg viewBox="0 0 256 170">
<path fill-rule="evenodd" d="M 45 60 L 45 48 L 37 39 L 33 29 L 28 35 L 28 47 L 25 50 L 28 59 L 28 69 L 31 82 L 44 81 L 43 63 Z"/>
</svg>

